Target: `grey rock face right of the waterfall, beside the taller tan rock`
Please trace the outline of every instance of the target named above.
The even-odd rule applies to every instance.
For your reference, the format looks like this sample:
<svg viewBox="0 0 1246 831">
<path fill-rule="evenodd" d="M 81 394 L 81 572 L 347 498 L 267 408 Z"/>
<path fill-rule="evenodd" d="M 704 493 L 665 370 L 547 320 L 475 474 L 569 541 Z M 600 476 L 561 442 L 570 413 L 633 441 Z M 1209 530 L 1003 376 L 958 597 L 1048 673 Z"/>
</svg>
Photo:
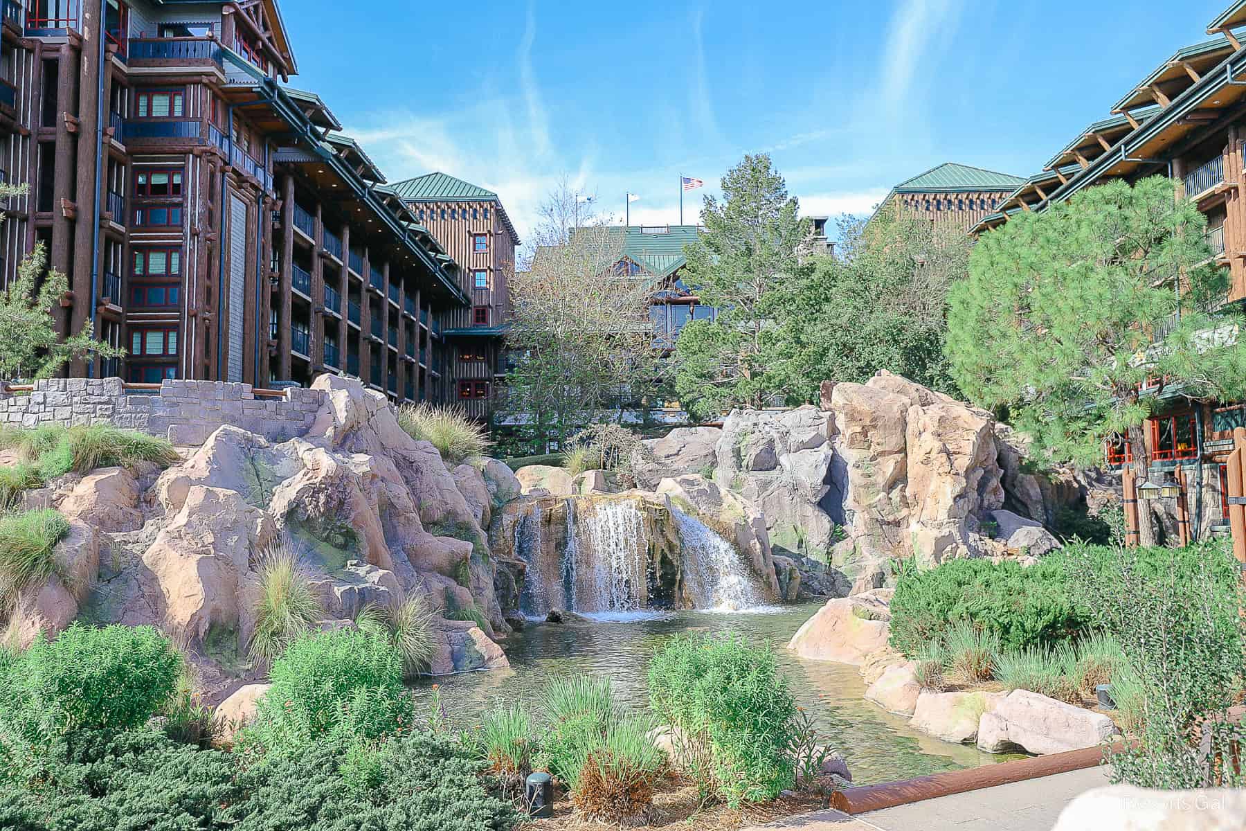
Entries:
<svg viewBox="0 0 1246 831">
<path fill-rule="evenodd" d="M 830 549 L 841 500 L 831 496 L 834 451 L 825 412 L 814 406 L 735 410 L 715 452 L 715 481 L 765 517 L 773 546 Z"/>
</svg>

